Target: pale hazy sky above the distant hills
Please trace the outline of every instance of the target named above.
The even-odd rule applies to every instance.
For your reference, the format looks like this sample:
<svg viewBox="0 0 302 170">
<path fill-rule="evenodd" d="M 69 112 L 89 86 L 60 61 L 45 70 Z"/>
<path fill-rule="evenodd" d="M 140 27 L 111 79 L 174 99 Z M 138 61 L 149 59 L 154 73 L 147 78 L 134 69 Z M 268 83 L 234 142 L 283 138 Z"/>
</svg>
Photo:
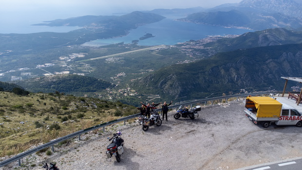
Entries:
<svg viewBox="0 0 302 170">
<path fill-rule="evenodd" d="M 114 15 L 158 8 L 211 8 L 241 0 L 1 0 L 0 26 L 17 29 L 17 25 L 31 25 L 54 19 L 85 15 Z M 7 27 L 7 28 L 4 28 Z M 2 30 L 3 30 L 2 29 Z M 0 33 L 3 32 L 0 28 Z M 12 30 L 13 32 L 13 30 Z"/>
</svg>

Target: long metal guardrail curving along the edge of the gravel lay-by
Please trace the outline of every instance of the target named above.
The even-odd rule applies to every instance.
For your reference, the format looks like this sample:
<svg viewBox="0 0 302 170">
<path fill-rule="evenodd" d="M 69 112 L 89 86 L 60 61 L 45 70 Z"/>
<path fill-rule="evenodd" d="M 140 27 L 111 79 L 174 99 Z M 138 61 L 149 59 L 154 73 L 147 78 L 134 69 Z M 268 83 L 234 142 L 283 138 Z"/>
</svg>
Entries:
<svg viewBox="0 0 302 170">
<path fill-rule="evenodd" d="M 226 102 L 227 102 L 227 100 L 229 98 L 237 97 L 237 100 L 238 100 L 238 97 L 243 97 L 243 96 L 248 96 L 248 95 L 272 94 L 272 93 L 273 94 L 279 94 L 279 93 L 282 93 L 282 91 L 280 91 L 280 92 L 279 91 L 278 92 L 259 92 L 259 93 L 250 93 L 250 94 L 234 94 L 234 95 L 227 95 L 227 96 L 219 96 L 219 97 L 212 97 L 212 98 L 205 98 L 205 99 L 190 100 L 190 101 L 181 102 L 179 104 L 171 105 L 171 106 L 169 106 L 169 108 L 175 108 L 175 107 L 179 107 L 180 105 L 190 105 L 190 104 L 194 104 L 194 103 L 203 103 L 203 102 L 206 105 L 206 103 L 208 101 L 212 101 L 211 104 L 213 104 L 214 100 L 221 100 L 221 99 L 226 99 Z M 160 111 L 160 110 L 161 109 L 156 109 L 156 111 Z M 78 136 L 78 138 L 80 140 L 80 135 L 82 133 L 90 132 L 90 131 L 93 131 L 93 130 L 96 130 L 96 129 L 99 129 L 99 128 L 103 128 L 103 131 L 105 132 L 105 127 L 106 126 L 109 126 L 109 125 L 112 125 L 112 124 L 115 124 L 115 123 L 118 123 L 118 122 L 121 122 L 121 121 L 124 121 L 124 125 L 125 125 L 126 120 L 135 118 L 138 115 L 139 115 L 139 113 L 138 114 L 133 114 L 133 115 L 122 117 L 122 118 L 119 118 L 119 119 L 115 119 L 115 120 L 112 120 L 112 121 L 109 121 L 109 122 L 106 122 L 106 123 L 102 123 L 102 124 L 99 124 L 99 125 L 96 125 L 96 126 L 93 126 L 93 127 L 90 127 L 90 128 L 78 131 L 78 132 L 68 134 L 68 135 L 63 136 L 61 138 L 58 138 L 56 140 L 53 140 L 51 142 L 48 142 L 48 143 L 43 144 L 41 146 L 38 146 L 37 148 L 31 149 L 29 151 L 25 151 L 23 153 L 20 153 L 17 156 L 14 156 L 14 157 L 9 158 L 5 161 L 2 161 L 2 162 L 0 162 L 0 167 L 3 167 L 5 165 L 7 165 L 9 163 L 12 163 L 14 161 L 17 161 L 17 160 L 19 161 L 19 166 L 20 166 L 21 165 L 21 158 L 23 158 L 27 155 L 30 155 L 32 153 L 35 153 L 37 151 L 40 151 L 40 150 L 43 150 L 43 149 L 49 148 L 49 147 L 52 147 L 52 151 L 54 151 L 54 145 L 57 144 L 57 143 L 63 142 L 65 140 L 73 138 L 75 136 Z"/>
</svg>

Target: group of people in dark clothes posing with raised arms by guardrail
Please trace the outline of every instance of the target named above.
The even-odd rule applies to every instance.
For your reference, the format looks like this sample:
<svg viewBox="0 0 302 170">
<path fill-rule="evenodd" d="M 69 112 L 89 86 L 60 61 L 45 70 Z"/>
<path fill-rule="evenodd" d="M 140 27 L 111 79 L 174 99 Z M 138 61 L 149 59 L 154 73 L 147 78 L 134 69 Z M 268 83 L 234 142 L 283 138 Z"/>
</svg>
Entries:
<svg viewBox="0 0 302 170">
<path fill-rule="evenodd" d="M 156 109 L 156 106 L 162 104 L 162 102 L 155 104 L 154 102 L 152 102 L 152 104 L 148 103 L 147 105 L 143 104 L 143 102 L 140 102 L 142 104 L 142 106 L 140 108 L 136 108 L 138 110 L 140 110 L 140 113 L 144 116 L 147 116 L 148 118 L 150 118 L 150 113 L 153 112 L 153 110 Z M 163 120 L 165 119 L 165 115 L 166 115 L 166 121 L 168 121 L 168 111 L 169 111 L 169 107 L 172 104 L 172 101 L 170 102 L 170 104 L 167 104 L 167 102 L 165 101 L 164 104 L 162 105 L 162 110 L 161 113 L 163 115 Z"/>
</svg>

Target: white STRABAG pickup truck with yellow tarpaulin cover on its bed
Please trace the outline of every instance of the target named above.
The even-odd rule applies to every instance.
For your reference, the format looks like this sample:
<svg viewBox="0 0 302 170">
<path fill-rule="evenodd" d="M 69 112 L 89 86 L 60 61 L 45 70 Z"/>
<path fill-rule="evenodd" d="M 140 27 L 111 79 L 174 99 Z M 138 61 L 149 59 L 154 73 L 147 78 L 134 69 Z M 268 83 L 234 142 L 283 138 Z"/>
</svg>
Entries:
<svg viewBox="0 0 302 170">
<path fill-rule="evenodd" d="M 302 127 L 302 114 L 294 107 L 280 103 L 267 96 L 248 96 L 245 99 L 245 115 L 255 124 L 264 128 L 276 125 L 296 125 Z"/>
</svg>

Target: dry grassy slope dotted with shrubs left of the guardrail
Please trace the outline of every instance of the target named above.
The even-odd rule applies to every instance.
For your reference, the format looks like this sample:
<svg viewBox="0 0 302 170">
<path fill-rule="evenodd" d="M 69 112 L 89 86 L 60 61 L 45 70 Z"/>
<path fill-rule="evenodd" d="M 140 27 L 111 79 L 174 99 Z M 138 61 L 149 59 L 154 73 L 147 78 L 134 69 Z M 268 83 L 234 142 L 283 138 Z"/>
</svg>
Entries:
<svg viewBox="0 0 302 170">
<path fill-rule="evenodd" d="M 32 146 L 117 119 L 113 115 L 116 109 L 113 102 L 93 98 L 0 92 L 0 156 L 18 154 Z M 136 112 L 133 108 L 133 113 Z M 62 122 L 63 117 L 67 121 Z M 49 129 L 57 127 L 56 124 L 60 129 Z"/>
</svg>

